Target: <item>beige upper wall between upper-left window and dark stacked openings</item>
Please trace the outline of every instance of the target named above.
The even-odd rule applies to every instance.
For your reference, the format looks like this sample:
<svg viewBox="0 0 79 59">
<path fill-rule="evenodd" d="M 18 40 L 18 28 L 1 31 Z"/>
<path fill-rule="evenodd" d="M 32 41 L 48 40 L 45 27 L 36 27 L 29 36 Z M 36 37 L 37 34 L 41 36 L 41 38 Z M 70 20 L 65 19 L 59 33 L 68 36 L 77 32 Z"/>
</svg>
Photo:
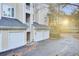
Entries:
<svg viewBox="0 0 79 59">
<path fill-rule="evenodd" d="M 24 3 L 16 3 L 16 18 L 26 24 Z"/>
</svg>

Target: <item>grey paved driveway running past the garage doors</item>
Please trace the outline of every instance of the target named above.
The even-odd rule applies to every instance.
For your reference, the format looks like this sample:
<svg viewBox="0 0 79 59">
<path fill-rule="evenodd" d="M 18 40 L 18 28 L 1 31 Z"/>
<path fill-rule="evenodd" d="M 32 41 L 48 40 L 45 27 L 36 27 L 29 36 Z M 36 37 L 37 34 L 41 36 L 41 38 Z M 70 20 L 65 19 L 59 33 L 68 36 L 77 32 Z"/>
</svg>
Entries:
<svg viewBox="0 0 79 59">
<path fill-rule="evenodd" d="M 73 36 L 65 36 L 58 40 L 40 41 L 32 47 L 23 47 L 13 55 L 23 56 L 77 56 L 79 55 L 79 40 Z M 8 53 L 7 55 L 12 55 Z"/>
</svg>

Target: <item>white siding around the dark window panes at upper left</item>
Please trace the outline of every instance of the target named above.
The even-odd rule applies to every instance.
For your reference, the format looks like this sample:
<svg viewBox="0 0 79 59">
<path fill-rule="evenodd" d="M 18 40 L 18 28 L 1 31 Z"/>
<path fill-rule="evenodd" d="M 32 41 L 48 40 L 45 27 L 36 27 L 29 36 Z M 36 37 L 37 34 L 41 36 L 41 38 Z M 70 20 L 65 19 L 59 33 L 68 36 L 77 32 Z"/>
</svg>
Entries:
<svg viewBox="0 0 79 59">
<path fill-rule="evenodd" d="M 2 6 L 2 9 L 1 9 L 2 15 L 1 16 L 4 16 L 3 11 L 5 11 L 5 13 L 10 14 L 10 16 L 6 15 L 4 17 L 9 17 L 9 18 L 16 17 L 16 4 L 15 3 L 2 3 L 1 6 Z M 11 10 L 9 11 L 8 8 L 14 8 L 14 17 L 11 16 L 12 11 Z"/>
</svg>

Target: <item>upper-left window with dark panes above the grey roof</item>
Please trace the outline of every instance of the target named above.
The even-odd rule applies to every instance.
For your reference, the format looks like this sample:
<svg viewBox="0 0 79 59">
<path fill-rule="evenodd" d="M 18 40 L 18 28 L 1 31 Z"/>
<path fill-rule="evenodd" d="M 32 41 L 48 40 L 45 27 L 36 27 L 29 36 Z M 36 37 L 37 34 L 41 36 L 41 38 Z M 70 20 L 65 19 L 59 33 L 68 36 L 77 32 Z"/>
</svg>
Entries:
<svg viewBox="0 0 79 59">
<path fill-rule="evenodd" d="M 14 17 L 14 8 L 9 5 L 3 5 L 2 12 L 4 17 Z"/>
</svg>

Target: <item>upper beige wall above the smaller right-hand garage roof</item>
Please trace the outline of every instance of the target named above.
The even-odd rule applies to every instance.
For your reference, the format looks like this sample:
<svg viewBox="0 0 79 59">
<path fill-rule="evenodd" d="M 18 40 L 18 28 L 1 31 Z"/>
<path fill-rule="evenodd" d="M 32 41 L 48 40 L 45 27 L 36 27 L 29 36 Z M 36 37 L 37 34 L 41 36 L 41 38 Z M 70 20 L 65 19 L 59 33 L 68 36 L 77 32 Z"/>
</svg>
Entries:
<svg viewBox="0 0 79 59">
<path fill-rule="evenodd" d="M 44 3 L 34 4 L 34 21 L 48 25 L 48 5 Z"/>
</svg>

